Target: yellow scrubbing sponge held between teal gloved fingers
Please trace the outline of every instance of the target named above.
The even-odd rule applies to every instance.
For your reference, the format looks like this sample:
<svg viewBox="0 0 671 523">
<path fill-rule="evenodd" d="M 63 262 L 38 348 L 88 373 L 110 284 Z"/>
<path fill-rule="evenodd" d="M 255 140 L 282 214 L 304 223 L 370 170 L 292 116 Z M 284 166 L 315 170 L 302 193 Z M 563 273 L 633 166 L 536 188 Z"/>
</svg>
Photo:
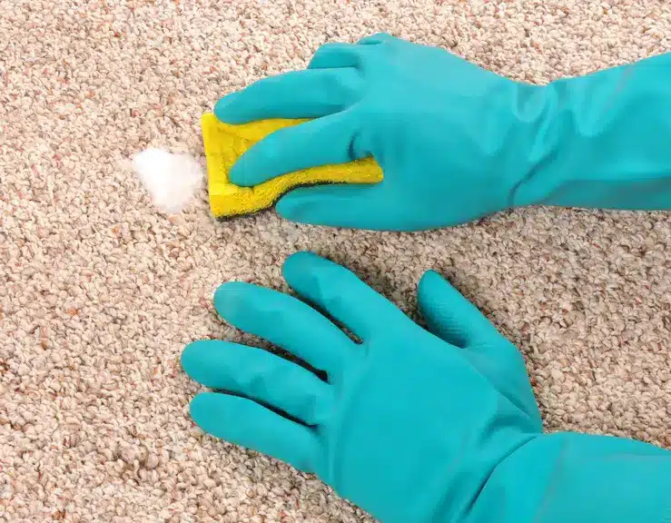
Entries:
<svg viewBox="0 0 671 523">
<path fill-rule="evenodd" d="M 260 120 L 232 125 L 220 122 L 213 113 L 201 119 L 202 141 L 207 159 L 210 208 L 217 219 L 251 214 L 268 209 L 295 187 L 319 183 L 379 183 L 382 170 L 372 158 L 350 163 L 321 165 L 276 178 L 253 187 L 231 183 L 229 172 L 235 161 L 254 143 L 283 127 L 306 120 Z"/>
</svg>

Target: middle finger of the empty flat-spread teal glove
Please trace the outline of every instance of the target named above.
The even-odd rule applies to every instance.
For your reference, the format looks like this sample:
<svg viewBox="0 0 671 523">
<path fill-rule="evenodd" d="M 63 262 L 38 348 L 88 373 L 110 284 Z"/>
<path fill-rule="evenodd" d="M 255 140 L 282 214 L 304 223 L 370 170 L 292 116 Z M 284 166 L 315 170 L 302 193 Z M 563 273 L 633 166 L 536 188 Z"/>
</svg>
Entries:
<svg viewBox="0 0 671 523">
<path fill-rule="evenodd" d="M 214 293 L 214 306 L 238 329 L 271 341 L 330 377 L 340 376 L 354 350 L 329 319 L 283 292 L 232 281 Z"/>
</svg>

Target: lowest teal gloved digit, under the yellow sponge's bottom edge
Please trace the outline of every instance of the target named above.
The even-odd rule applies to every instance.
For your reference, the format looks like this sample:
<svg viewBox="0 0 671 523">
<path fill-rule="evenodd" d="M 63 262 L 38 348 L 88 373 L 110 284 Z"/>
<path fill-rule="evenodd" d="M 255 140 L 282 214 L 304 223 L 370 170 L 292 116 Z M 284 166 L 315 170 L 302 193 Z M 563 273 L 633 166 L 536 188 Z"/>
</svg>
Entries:
<svg viewBox="0 0 671 523">
<path fill-rule="evenodd" d="M 330 184 L 301 187 L 287 192 L 275 205 L 282 218 L 291 222 L 329 227 L 385 230 L 398 209 L 378 197 L 377 184 Z M 365 217 L 365 218 L 364 218 Z M 409 226 L 412 222 L 408 222 Z"/>
</svg>

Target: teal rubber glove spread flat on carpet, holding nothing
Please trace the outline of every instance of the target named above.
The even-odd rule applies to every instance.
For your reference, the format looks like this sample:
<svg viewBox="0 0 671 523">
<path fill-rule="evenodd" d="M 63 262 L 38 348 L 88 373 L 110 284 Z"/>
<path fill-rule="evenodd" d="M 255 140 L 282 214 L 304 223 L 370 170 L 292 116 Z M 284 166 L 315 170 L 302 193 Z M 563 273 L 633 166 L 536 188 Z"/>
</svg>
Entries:
<svg viewBox="0 0 671 523">
<path fill-rule="evenodd" d="M 232 282 L 217 311 L 326 379 L 266 350 L 196 341 L 182 362 L 215 390 L 191 404 L 205 431 L 316 474 L 385 523 L 671 517 L 671 453 L 543 435 L 518 350 L 436 272 L 418 291 L 430 331 L 310 252 L 284 275 L 305 301 Z"/>
</svg>

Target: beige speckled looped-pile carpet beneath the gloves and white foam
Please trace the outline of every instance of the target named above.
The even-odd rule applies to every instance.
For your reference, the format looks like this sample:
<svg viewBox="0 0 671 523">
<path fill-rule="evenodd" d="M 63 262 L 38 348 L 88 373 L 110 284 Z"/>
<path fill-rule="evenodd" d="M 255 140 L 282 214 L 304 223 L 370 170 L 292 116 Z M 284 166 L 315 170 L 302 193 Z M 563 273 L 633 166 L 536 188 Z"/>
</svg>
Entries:
<svg viewBox="0 0 671 523">
<path fill-rule="evenodd" d="M 0 0 L 0 520 L 370 521 L 187 414 L 183 345 L 240 338 L 213 289 L 281 288 L 299 249 L 408 311 L 422 271 L 443 271 L 523 350 L 548 429 L 671 447 L 671 215 L 528 210 L 414 235 L 216 223 L 204 190 L 156 212 L 124 166 L 150 144 L 202 154 L 220 95 L 378 31 L 544 83 L 671 50 L 671 4 Z"/>
</svg>

